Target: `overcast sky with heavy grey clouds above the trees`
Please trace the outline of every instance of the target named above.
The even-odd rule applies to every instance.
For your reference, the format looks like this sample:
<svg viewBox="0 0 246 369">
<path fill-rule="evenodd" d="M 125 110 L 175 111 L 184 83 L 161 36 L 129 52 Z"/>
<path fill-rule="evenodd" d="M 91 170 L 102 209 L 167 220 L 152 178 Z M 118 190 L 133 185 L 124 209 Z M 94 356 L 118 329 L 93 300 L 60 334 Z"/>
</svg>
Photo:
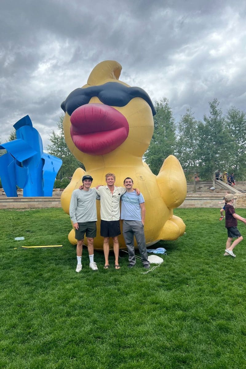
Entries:
<svg viewBox="0 0 246 369">
<path fill-rule="evenodd" d="M 245 24 L 242 0 L 1 0 L 0 141 L 29 114 L 45 149 L 62 101 L 107 59 L 176 120 L 215 97 L 245 110 Z"/>
</svg>

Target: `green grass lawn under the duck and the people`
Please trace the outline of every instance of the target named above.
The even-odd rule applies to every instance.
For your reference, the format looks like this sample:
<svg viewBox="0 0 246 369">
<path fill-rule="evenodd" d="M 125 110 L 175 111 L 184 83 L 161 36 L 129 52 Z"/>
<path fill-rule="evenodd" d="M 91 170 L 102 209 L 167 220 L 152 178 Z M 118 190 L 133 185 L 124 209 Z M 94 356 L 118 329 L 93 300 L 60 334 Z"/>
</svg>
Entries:
<svg viewBox="0 0 246 369">
<path fill-rule="evenodd" d="M 93 272 L 84 250 L 76 273 L 62 209 L 0 210 L 0 368 L 246 368 L 246 242 L 224 257 L 219 209 L 174 214 L 187 235 L 154 246 L 167 249 L 159 268 L 128 269 L 122 253 L 104 270 L 95 252 Z"/>
</svg>

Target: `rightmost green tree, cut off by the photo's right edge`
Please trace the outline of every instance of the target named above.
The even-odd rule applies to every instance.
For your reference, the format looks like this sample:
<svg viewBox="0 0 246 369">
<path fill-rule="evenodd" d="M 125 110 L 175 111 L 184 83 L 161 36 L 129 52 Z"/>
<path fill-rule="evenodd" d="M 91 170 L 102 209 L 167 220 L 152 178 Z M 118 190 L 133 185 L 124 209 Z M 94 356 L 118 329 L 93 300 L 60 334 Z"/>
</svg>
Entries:
<svg viewBox="0 0 246 369">
<path fill-rule="evenodd" d="M 226 128 L 231 137 L 227 150 L 229 154 L 228 170 L 234 172 L 237 179 L 246 175 L 246 113 L 232 106 L 226 114 Z"/>
</svg>

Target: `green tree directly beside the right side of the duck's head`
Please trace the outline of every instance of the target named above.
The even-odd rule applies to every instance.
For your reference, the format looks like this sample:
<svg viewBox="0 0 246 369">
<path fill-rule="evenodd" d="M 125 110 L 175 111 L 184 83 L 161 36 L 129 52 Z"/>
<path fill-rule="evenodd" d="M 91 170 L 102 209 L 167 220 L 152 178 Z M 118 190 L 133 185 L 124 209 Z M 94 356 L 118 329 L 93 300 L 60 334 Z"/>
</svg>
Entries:
<svg viewBox="0 0 246 369">
<path fill-rule="evenodd" d="M 176 125 L 169 101 L 163 97 L 155 101 L 154 132 L 144 159 L 154 174 L 158 174 L 167 156 L 174 154 Z"/>
</svg>

